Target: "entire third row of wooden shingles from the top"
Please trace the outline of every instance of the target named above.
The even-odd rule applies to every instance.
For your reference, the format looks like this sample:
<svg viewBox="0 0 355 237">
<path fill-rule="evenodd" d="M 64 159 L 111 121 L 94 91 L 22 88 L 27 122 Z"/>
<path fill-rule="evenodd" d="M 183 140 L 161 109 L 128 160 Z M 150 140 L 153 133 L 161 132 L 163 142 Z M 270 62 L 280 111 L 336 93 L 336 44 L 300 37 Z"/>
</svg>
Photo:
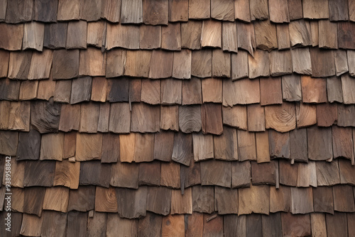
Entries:
<svg viewBox="0 0 355 237">
<path fill-rule="evenodd" d="M 127 38 L 128 39 L 128 38 Z M 120 41 L 124 42 L 124 41 Z M 321 50 L 297 48 L 256 50 L 254 55 L 245 51 L 225 53 L 222 50 L 110 50 L 102 53 L 96 48 L 87 50 L 44 50 L 43 53 L 6 52 L 1 50 L 0 77 L 10 79 L 71 79 L 75 77 L 148 77 L 153 79 L 175 77 L 278 77 L 292 72 L 312 77 L 332 77 L 349 72 L 354 76 L 353 50 Z M 8 63 L 6 63 L 8 62 Z M 41 65 L 39 67 L 38 65 Z M 45 67 L 42 67 L 45 65 Z M 165 67 L 160 67 L 164 65 Z M 239 65 L 243 65 L 240 67 Z M 258 65 L 264 65 L 258 67 Z M 51 70 L 51 66 L 53 69 Z M 63 68 L 67 69 L 63 72 Z"/>
</svg>

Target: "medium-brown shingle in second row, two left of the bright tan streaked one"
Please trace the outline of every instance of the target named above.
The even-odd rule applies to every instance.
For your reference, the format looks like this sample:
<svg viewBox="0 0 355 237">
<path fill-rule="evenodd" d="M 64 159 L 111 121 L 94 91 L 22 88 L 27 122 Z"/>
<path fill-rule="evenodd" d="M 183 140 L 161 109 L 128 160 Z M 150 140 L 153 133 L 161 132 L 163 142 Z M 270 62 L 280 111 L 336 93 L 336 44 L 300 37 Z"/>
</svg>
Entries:
<svg viewBox="0 0 355 237">
<path fill-rule="evenodd" d="M 161 48 L 165 50 L 181 50 L 180 23 L 170 23 L 168 26 L 162 26 Z"/>
</svg>

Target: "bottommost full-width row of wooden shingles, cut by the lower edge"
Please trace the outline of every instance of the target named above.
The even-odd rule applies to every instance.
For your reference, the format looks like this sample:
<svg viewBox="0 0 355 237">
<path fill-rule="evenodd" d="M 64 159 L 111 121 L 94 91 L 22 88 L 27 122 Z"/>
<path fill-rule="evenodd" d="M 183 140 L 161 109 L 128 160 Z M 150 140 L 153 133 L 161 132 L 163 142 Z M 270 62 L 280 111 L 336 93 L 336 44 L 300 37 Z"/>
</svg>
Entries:
<svg viewBox="0 0 355 237">
<path fill-rule="evenodd" d="M 5 212 L 1 213 L 6 214 Z M 40 236 L 56 233 L 57 236 L 351 236 L 354 214 L 312 213 L 292 215 L 276 213 L 225 215 L 200 214 L 160 216 L 148 212 L 139 220 L 122 219 L 118 214 L 70 211 L 60 214 L 43 211 L 43 216 L 13 213 L 16 224 L 13 233 L 24 236 Z M 5 218 L 5 217 L 4 217 Z M 99 224 L 94 224 L 96 221 Z M 56 223 L 53 226 L 53 222 Z M 22 226 L 21 226 L 22 224 Z M 79 226 L 79 227 L 78 227 Z M 297 228 L 295 228 L 295 226 Z M 53 227 L 55 232 L 53 232 Z M 149 227 L 149 228 L 148 228 Z M 6 234 L 5 228 L 1 233 Z"/>
</svg>

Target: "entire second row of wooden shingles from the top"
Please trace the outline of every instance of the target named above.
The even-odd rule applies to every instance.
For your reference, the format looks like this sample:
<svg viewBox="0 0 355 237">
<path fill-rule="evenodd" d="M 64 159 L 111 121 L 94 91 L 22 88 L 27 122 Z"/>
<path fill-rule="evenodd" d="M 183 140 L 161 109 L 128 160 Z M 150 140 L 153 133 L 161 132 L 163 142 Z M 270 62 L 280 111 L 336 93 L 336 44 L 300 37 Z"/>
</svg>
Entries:
<svg viewBox="0 0 355 237">
<path fill-rule="evenodd" d="M 189 21 L 169 23 L 168 26 L 134 26 L 97 21 L 70 21 L 69 23 L 31 22 L 8 25 L 1 23 L 4 35 L 0 38 L 0 48 L 23 50 L 33 48 L 128 48 L 165 50 L 191 50 L 201 47 L 222 48 L 237 52 L 238 48 L 253 54 L 253 48 L 262 50 L 288 49 L 297 46 L 317 46 L 320 48 L 355 49 L 354 23 L 332 23 L 320 21 L 291 21 L 289 24 L 275 24 L 270 21 L 255 23 Z M 16 35 L 13 40 L 12 35 Z M 21 35 L 21 37 L 18 37 Z M 263 35 L 261 37 L 260 35 Z M 332 37 L 329 37 L 332 35 Z M 35 37 L 36 36 L 36 37 Z M 134 40 L 132 40 L 134 39 Z"/>
</svg>

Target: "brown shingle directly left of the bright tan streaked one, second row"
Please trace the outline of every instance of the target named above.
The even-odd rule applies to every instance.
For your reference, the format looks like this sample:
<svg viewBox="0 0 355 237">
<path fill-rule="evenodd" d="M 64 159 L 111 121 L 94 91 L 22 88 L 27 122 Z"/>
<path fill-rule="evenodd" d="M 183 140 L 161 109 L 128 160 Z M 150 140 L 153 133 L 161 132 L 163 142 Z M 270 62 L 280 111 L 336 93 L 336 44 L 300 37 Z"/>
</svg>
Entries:
<svg viewBox="0 0 355 237">
<path fill-rule="evenodd" d="M 190 48 L 191 50 L 200 49 L 201 33 L 201 21 L 187 21 L 187 23 L 181 23 L 181 47 Z"/>
</svg>

